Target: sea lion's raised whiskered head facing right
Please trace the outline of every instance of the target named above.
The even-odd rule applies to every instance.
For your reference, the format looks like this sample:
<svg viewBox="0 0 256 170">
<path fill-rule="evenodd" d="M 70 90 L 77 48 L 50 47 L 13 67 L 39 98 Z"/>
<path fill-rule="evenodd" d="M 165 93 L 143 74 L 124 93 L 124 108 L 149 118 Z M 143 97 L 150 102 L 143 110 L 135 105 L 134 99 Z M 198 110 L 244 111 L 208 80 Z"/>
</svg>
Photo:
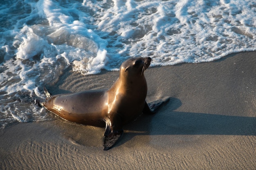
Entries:
<svg viewBox="0 0 256 170">
<path fill-rule="evenodd" d="M 134 57 L 121 64 L 120 74 L 128 76 L 142 76 L 150 65 L 150 57 Z"/>
</svg>

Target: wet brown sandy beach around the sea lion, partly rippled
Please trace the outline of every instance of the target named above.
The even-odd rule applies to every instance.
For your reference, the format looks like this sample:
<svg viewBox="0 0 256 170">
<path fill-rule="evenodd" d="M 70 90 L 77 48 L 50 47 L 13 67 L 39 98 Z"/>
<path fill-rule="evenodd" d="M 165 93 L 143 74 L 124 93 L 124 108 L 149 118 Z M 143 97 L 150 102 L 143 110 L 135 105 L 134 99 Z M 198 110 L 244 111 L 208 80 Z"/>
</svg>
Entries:
<svg viewBox="0 0 256 170">
<path fill-rule="evenodd" d="M 67 69 L 46 86 L 53 94 L 110 88 L 118 75 Z M 256 52 L 152 67 L 145 77 L 148 103 L 171 99 L 155 115 L 124 126 L 114 148 L 103 151 L 104 128 L 49 113 L 49 121 L 13 123 L 0 131 L 0 169 L 256 169 Z"/>
</svg>

